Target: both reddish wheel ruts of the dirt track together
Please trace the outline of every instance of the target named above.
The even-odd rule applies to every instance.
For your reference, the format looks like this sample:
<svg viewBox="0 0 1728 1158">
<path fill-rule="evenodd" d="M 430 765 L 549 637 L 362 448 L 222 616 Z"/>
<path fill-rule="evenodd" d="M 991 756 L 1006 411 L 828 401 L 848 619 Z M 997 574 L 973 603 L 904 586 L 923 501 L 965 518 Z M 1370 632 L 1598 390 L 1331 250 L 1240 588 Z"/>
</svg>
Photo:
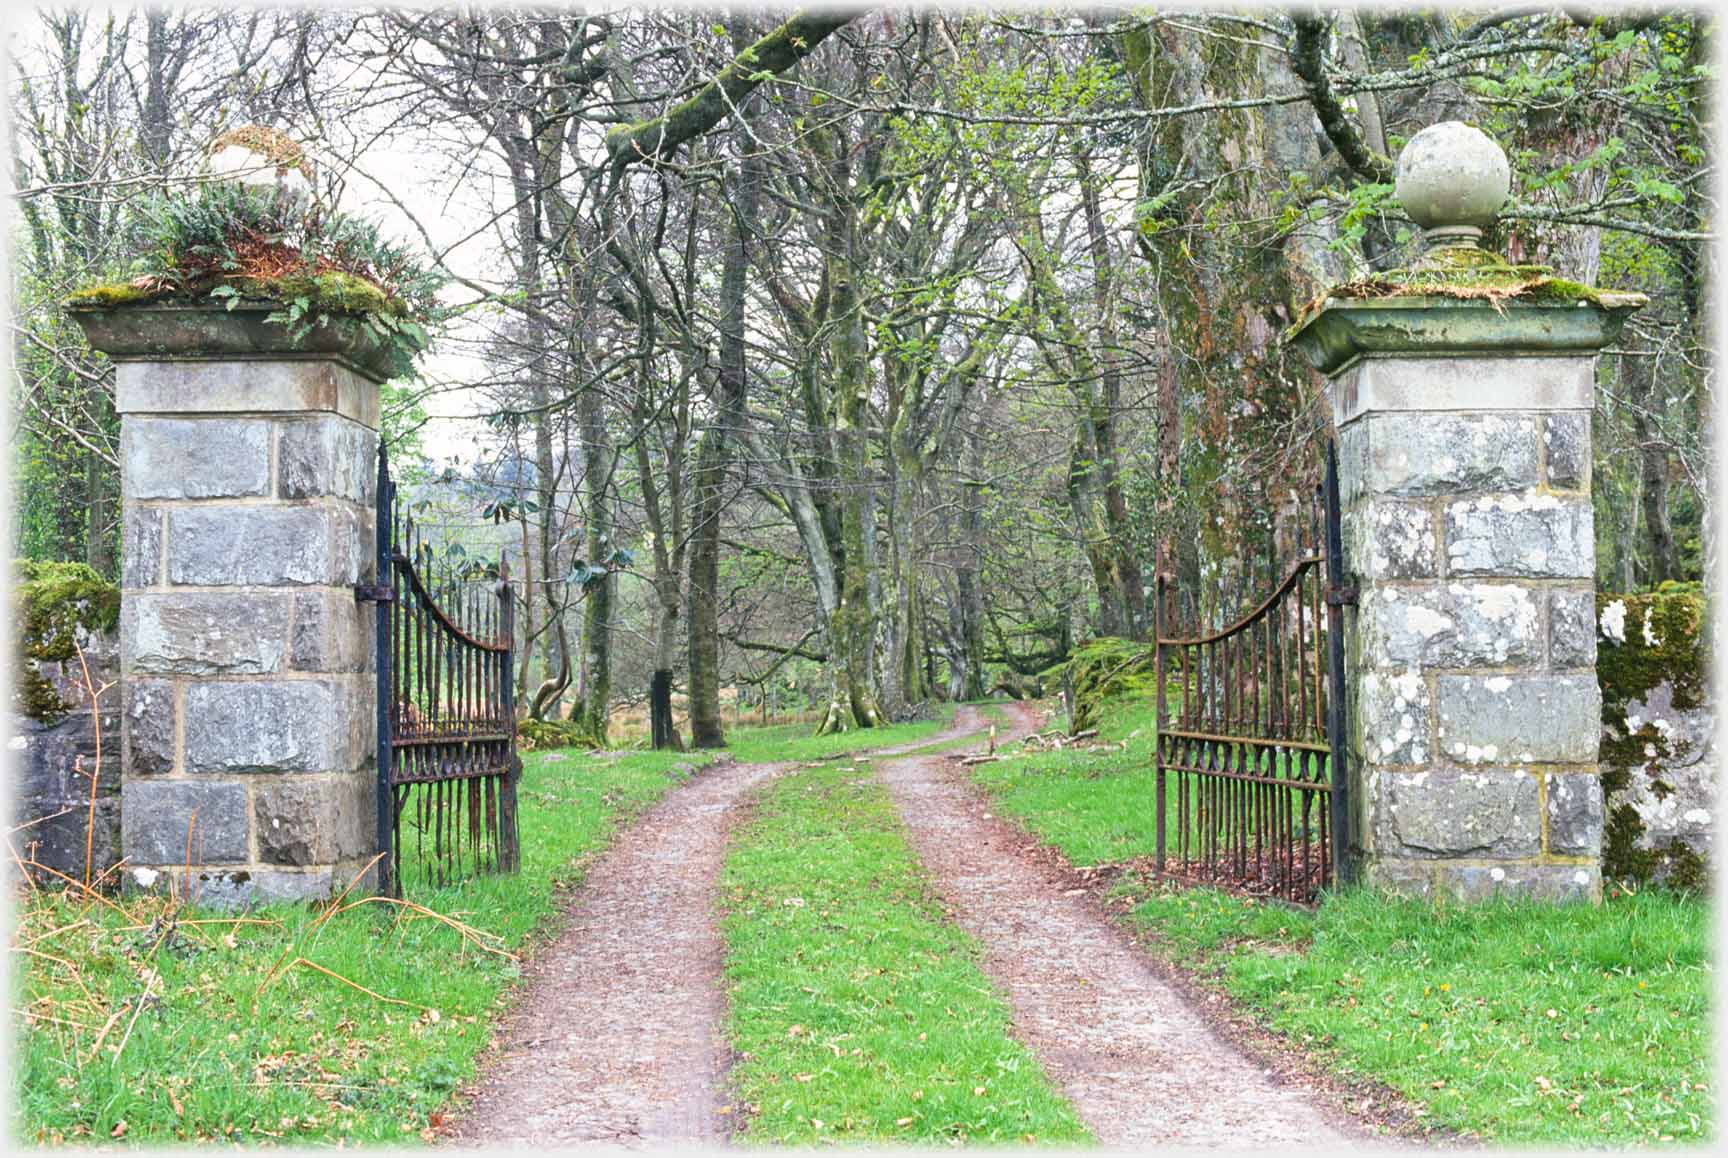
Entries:
<svg viewBox="0 0 1728 1158">
<path fill-rule="evenodd" d="M 1009 705 L 1014 726 L 1035 714 Z M 1026 850 L 933 740 L 874 752 L 924 868 L 1040 1058 L 1113 1146 L 1324 1146 L 1362 1136 L 1222 1039 L 1082 888 Z M 900 757 L 900 759 L 895 759 Z M 558 940 L 442 1132 L 456 1144 L 721 1144 L 726 1044 L 717 928 L 726 840 L 771 764 L 719 764 L 676 788 L 593 866 Z"/>
</svg>

